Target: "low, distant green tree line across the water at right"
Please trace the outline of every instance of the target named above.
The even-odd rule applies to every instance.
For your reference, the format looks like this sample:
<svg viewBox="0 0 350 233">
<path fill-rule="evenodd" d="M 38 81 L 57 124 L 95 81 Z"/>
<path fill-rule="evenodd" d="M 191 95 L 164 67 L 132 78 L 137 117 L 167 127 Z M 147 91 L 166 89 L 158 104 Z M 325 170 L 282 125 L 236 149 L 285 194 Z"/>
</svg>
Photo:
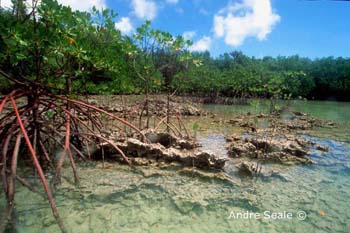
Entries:
<svg viewBox="0 0 350 233">
<path fill-rule="evenodd" d="M 280 97 L 350 100 L 350 59 L 311 60 L 298 55 L 254 58 L 234 51 L 212 58 L 193 54 L 202 62 L 177 76 L 174 86 L 184 93 L 226 97 Z M 180 81 L 181 80 L 181 81 Z"/>
</svg>

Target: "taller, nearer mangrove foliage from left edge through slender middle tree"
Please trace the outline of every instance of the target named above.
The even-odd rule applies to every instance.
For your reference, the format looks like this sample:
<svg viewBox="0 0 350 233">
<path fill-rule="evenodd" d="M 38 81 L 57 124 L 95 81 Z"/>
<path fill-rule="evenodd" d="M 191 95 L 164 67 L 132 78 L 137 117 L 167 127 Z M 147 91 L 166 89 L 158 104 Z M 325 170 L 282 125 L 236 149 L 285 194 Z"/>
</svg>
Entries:
<svg viewBox="0 0 350 233">
<path fill-rule="evenodd" d="M 164 89 L 169 67 L 188 60 L 182 37 L 151 29 L 145 22 L 132 38 L 114 27 L 116 14 L 105 9 L 73 12 L 56 1 L 42 2 L 36 18 L 24 1 L 0 12 L 0 78 L 35 80 L 79 93 L 140 93 Z M 35 1 L 34 1 L 35 2 Z M 177 66 L 175 66 L 177 64 Z M 172 74 L 172 75 L 174 75 Z M 162 87 L 162 88 L 161 88 Z"/>
</svg>

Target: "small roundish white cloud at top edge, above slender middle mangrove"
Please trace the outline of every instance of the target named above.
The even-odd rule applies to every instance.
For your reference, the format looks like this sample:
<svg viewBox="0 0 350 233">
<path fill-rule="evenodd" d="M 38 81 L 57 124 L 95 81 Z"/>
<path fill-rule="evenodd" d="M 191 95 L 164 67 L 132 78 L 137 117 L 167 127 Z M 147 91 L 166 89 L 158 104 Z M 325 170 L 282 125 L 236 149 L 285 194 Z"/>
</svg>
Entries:
<svg viewBox="0 0 350 233">
<path fill-rule="evenodd" d="M 141 19 L 152 20 L 157 15 L 157 5 L 152 0 L 132 0 L 134 14 Z"/>
</svg>

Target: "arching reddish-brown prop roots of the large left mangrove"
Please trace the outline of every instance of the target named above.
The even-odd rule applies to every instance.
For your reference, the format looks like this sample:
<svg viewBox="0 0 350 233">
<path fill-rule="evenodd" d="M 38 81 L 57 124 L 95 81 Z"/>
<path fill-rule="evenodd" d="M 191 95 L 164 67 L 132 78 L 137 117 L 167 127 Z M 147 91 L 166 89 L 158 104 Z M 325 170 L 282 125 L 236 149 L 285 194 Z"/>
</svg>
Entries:
<svg viewBox="0 0 350 233">
<path fill-rule="evenodd" d="M 7 206 L 0 222 L 0 232 L 6 227 L 8 218 L 14 211 L 15 181 L 39 193 L 26 179 L 16 174 L 17 160 L 30 159 L 32 161 L 31 165 L 34 167 L 35 174 L 40 177 L 52 213 L 61 231 L 67 232 L 43 169 L 54 168 L 56 170 L 54 179 L 58 180 L 62 164 L 68 157 L 75 182 L 78 184 L 79 176 L 74 156 L 85 160 L 83 147 L 86 147 L 88 158 L 90 158 L 89 144 L 97 141 L 110 144 L 126 163 L 132 166 L 124 152 L 103 135 L 102 130 L 105 126 L 99 118 L 101 115 L 123 124 L 124 131 L 122 128 L 119 130 L 125 135 L 127 135 L 126 129 L 128 128 L 138 133 L 144 142 L 148 142 L 141 130 L 126 119 L 83 101 L 51 94 L 47 89 L 39 88 L 39 86 L 25 90 L 17 89 L 4 96 L 0 100 L 0 113 L 2 114 L 0 118 L 0 144 L 2 146 L 0 169 L 3 191 L 7 199 Z M 56 160 L 54 153 L 60 146 L 63 148 L 63 153 L 57 156 Z M 23 157 L 18 157 L 20 150 L 25 152 Z"/>
</svg>

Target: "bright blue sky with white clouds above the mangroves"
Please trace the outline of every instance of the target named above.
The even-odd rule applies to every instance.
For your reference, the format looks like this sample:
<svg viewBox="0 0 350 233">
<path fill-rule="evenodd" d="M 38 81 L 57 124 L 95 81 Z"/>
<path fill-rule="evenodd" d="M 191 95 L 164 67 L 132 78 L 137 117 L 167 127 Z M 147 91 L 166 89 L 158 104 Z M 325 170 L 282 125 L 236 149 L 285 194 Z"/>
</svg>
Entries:
<svg viewBox="0 0 350 233">
<path fill-rule="evenodd" d="M 350 1 L 306 0 L 59 0 L 73 9 L 109 7 L 124 34 L 144 20 L 184 35 L 193 51 L 213 56 L 240 50 L 249 56 L 350 57 Z M 2 0 L 10 4 L 10 0 Z"/>
</svg>

